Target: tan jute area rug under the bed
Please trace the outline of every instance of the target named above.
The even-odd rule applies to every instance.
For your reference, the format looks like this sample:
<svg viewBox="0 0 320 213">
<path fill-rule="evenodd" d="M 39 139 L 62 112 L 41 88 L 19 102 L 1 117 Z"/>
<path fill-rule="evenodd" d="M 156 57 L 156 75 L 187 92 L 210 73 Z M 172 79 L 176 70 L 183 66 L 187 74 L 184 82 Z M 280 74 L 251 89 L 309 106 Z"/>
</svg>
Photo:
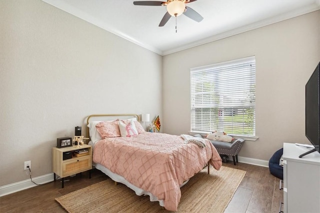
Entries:
<svg viewBox="0 0 320 213">
<path fill-rule="evenodd" d="M 181 188 L 180 213 L 223 213 L 245 171 L 221 167 L 204 169 Z M 169 212 L 150 202 L 149 196 L 137 196 L 111 179 L 93 184 L 55 199 L 69 213 L 161 213 Z"/>
</svg>

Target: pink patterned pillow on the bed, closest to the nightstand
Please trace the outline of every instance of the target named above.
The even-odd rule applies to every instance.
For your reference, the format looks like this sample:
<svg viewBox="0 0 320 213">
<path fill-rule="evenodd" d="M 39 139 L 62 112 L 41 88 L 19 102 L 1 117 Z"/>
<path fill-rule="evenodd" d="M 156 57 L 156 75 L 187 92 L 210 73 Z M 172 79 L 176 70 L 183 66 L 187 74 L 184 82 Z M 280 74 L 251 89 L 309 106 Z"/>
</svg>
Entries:
<svg viewBox="0 0 320 213">
<path fill-rule="evenodd" d="M 95 127 L 102 139 L 121 136 L 118 126 L 118 120 L 102 121 L 96 124 Z"/>
</svg>

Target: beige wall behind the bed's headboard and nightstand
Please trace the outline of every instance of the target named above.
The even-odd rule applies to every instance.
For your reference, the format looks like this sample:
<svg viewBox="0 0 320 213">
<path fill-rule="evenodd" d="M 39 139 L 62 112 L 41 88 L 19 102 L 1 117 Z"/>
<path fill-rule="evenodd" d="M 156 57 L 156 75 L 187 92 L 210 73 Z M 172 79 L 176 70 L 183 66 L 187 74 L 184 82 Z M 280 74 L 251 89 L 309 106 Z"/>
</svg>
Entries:
<svg viewBox="0 0 320 213">
<path fill-rule="evenodd" d="M 95 113 L 162 109 L 162 57 L 40 0 L 0 1 L 0 186 L 52 172 Z"/>
</svg>

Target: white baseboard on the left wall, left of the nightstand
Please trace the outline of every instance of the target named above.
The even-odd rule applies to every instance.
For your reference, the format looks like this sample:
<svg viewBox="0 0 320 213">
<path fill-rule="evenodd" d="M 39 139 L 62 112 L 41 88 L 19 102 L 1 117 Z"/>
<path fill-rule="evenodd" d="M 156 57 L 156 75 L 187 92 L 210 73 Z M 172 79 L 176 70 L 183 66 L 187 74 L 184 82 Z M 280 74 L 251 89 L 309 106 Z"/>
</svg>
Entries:
<svg viewBox="0 0 320 213">
<path fill-rule="evenodd" d="M 37 184 L 45 184 L 45 183 L 51 182 L 53 181 L 53 173 L 32 178 L 32 181 Z M 8 184 L 0 187 L 0 197 L 11 194 L 11 193 L 15 193 L 21 190 L 25 190 L 31 187 L 35 187 L 35 186 L 37 185 L 33 184 L 30 179 L 19 181 L 13 184 Z"/>
</svg>

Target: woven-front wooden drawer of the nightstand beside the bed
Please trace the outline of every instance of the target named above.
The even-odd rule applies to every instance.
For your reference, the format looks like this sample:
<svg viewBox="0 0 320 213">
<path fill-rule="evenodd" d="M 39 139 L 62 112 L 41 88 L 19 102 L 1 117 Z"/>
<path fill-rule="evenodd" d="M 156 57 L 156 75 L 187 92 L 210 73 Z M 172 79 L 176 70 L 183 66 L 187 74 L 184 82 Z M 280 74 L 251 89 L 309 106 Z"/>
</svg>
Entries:
<svg viewBox="0 0 320 213">
<path fill-rule="evenodd" d="M 72 175 L 74 173 L 80 173 L 91 169 L 91 156 L 84 156 L 77 158 L 76 160 L 70 159 L 70 161 L 63 162 L 62 173 L 63 177 Z"/>
</svg>

